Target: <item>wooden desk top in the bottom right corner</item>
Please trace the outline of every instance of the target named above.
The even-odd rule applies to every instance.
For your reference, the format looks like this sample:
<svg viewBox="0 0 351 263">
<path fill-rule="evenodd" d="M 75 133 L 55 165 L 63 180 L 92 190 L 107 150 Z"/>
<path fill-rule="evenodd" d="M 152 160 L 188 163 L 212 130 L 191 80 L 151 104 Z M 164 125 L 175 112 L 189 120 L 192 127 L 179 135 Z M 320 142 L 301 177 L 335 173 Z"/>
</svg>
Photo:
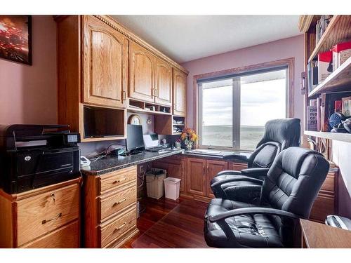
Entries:
<svg viewBox="0 0 351 263">
<path fill-rule="evenodd" d="M 351 231 L 300 220 L 302 248 L 351 248 Z"/>
</svg>

